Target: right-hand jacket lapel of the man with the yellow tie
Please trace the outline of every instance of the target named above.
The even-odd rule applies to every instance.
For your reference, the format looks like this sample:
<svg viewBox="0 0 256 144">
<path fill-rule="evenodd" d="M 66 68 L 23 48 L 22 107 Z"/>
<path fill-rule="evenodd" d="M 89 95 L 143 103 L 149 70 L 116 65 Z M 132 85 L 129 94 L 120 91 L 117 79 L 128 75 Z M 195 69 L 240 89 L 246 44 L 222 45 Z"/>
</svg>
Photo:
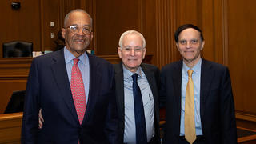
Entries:
<svg viewBox="0 0 256 144">
<path fill-rule="evenodd" d="M 201 66 L 201 84 L 200 84 L 200 114 L 201 122 L 205 112 L 205 101 L 210 92 L 210 84 L 214 78 L 214 70 L 209 62 L 202 58 Z"/>
</svg>

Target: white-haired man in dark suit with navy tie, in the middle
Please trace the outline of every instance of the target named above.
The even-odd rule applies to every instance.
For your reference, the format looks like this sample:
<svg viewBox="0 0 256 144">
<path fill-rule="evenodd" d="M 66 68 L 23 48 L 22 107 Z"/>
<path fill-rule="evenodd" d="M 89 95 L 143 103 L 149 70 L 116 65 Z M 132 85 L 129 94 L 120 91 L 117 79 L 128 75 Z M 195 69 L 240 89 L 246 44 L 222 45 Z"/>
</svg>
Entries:
<svg viewBox="0 0 256 144">
<path fill-rule="evenodd" d="M 158 82 L 159 70 L 156 66 L 142 63 L 146 54 L 145 38 L 138 31 L 128 30 L 119 40 L 118 55 L 122 62 L 114 65 L 116 95 L 118 103 L 119 127 L 122 142 L 127 144 L 155 144 L 159 141 Z M 146 141 L 138 130 L 133 93 L 133 75 L 138 75 L 138 86 L 142 94 L 142 105 L 146 123 Z M 142 129 L 142 126 L 139 127 Z M 140 139 L 139 139 L 140 138 Z"/>
</svg>

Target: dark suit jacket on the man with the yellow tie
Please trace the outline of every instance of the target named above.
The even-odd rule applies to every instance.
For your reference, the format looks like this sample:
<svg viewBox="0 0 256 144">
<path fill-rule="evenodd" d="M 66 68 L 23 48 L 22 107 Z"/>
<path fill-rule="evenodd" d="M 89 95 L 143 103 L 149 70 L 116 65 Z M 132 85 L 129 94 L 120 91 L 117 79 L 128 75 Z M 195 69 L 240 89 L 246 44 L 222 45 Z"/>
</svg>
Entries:
<svg viewBox="0 0 256 144">
<path fill-rule="evenodd" d="M 181 122 L 182 60 L 161 71 L 161 103 L 166 102 L 166 128 L 163 141 L 178 143 Z M 206 143 L 236 143 L 234 99 L 226 66 L 202 59 L 200 116 Z"/>
</svg>

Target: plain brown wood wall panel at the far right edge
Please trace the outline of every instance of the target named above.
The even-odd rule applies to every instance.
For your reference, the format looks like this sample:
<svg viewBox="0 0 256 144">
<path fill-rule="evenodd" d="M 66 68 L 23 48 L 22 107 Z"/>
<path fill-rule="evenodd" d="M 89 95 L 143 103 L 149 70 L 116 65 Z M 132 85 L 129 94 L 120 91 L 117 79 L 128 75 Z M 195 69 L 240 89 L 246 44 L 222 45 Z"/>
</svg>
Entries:
<svg viewBox="0 0 256 144">
<path fill-rule="evenodd" d="M 254 0 L 226 0 L 227 63 L 230 67 L 236 110 L 256 116 L 256 10 Z M 256 117 L 254 118 L 256 122 Z"/>
</svg>

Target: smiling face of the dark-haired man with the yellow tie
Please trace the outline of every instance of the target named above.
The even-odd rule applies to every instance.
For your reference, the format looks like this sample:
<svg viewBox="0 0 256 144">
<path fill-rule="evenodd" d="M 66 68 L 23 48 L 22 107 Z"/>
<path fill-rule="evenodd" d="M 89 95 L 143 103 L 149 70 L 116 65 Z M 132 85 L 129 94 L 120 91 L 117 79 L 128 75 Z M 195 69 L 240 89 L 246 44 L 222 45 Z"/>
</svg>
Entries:
<svg viewBox="0 0 256 144">
<path fill-rule="evenodd" d="M 200 32 L 188 28 L 178 35 L 176 46 L 186 65 L 194 66 L 201 58 L 200 51 L 204 44 L 205 42 L 200 38 Z"/>
</svg>

